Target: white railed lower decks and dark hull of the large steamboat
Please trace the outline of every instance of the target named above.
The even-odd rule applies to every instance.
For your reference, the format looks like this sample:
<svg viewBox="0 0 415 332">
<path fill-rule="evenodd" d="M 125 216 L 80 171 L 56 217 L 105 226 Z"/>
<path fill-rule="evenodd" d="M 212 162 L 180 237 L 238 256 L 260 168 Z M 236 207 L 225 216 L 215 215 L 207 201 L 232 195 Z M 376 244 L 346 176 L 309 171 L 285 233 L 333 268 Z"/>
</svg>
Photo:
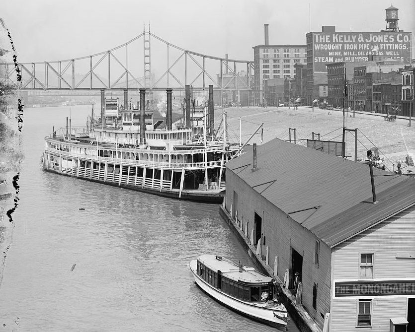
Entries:
<svg viewBox="0 0 415 332">
<path fill-rule="evenodd" d="M 159 196 L 220 203 L 224 153 L 164 151 L 46 138 L 45 171 Z M 205 158 L 205 160 L 203 160 Z"/>
</svg>

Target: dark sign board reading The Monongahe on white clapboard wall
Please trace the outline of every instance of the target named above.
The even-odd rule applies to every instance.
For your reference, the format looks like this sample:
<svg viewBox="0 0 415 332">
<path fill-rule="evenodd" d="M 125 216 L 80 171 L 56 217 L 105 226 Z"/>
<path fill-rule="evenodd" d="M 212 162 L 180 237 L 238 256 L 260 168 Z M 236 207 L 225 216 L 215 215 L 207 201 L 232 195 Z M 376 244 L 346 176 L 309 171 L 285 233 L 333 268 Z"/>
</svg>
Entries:
<svg viewBox="0 0 415 332">
<path fill-rule="evenodd" d="M 334 296 L 415 295 L 415 280 L 335 281 Z"/>
</svg>

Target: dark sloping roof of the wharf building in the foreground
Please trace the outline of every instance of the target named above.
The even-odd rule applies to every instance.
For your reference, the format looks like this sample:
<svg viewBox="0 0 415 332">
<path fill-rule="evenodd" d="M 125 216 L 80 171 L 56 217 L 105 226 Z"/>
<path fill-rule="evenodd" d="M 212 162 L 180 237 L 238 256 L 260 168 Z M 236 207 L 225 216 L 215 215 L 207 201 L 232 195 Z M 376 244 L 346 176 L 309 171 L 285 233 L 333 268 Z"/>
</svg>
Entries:
<svg viewBox="0 0 415 332">
<path fill-rule="evenodd" d="M 415 203 L 415 179 L 375 177 L 372 203 L 369 166 L 275 138 L 228 162 L 265 199 L 289 214 L 329 246 L 344 241 Z M 373 169 L 374 175 L 391 174 Z"/>
</svg>

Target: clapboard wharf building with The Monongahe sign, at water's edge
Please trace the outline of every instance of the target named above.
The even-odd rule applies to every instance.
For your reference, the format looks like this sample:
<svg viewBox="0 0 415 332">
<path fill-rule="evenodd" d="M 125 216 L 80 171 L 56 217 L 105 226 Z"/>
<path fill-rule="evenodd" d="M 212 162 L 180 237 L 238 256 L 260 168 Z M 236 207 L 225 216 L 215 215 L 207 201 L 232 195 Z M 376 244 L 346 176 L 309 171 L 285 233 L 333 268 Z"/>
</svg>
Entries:
<svg viewBox="0 0 415 332">
<path fill-rule="evenodd" d="M 221 215 L 291 308 L 324 331 L 414 331 L 415 179 L 278 138 L 251 151 L 226 164 Z"/>
</svg>

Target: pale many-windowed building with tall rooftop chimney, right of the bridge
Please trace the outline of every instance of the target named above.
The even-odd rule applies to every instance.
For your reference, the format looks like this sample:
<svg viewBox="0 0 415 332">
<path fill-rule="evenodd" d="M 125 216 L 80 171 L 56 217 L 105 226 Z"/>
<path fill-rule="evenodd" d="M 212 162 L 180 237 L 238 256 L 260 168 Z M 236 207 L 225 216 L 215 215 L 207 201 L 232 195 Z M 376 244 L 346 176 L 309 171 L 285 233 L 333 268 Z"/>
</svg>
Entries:
<svg viewBox="0 0 415 332">
<path fill-rule="evenodd" d="M 268 24 L 264 24 L 264 45 L 253 47 L 255 105 L 270 102 L 264 92 L 266 80 L 294 77 L 294 65 L 305 63 L 305 45 L 269 45 Z"/>
</svg>

